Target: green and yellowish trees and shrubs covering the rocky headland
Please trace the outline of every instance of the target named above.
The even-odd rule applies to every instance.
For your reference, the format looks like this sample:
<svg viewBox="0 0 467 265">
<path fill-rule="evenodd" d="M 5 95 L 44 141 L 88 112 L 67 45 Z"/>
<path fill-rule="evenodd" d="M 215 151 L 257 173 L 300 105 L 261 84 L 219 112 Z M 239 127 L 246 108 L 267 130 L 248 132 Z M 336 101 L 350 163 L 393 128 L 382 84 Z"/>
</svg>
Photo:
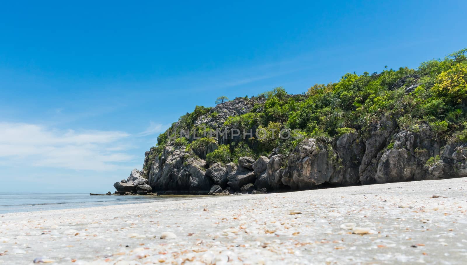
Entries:
<svg viewBox="0 0 467 265">
<path fill-rule="evenodd" d="M 241 132 L 266 129 L 266 134 L 261 135 L 262 139 L 253 133 L 245 139 L 240 137 L 222 142 L 223 145 L 216 151 L 207 154 L 208 164 L 228 163 L 241 156 L 257 157 L 273 151 L 287 154 L 300 139 L 280 139 L 279 133 L 283 133 L 281 130 L 284 128 L 296 129 L 294 133 L 325 142 L 349 132 L 360 132 L 365 136 L 373 122 L 382 116 L 397 121 L 400 129 L 417 132 L 420 126 L 429 126 L 443 141 L 465 142 L 466 53 L 467 49 L 462 49 L 443 60 L 421 63 L 417 70 L 401 67 L 373 74 L 347 73 L 338 83 L 315 84 L 298 95 L 290 95 L 278 87 L 256 97 L 237 98 L 233 101 L 247 100 L 252 105 L 251 109 L 226 119 L 220 118 L 217 107 L 196 106 L 193 112 L 172 124 L 170 134 L 180 137 L 180 130 L 192 132 L 194 129 L 197 135 L 209 135 L 217 128 L 236 128 Z M 220 105 L 229 103 L 225 102 L 225 97 L 221 98 L 217 100 Z M 210 122 L 204 123 L 203 120 Z M 157 146 L 151 148 L 153 154 L 150 158 L 154 159 L 168 141 L 167 132 L 159 135 Z M 212 141 L 195 140 L 188 148 Z M 176 144 L 187 146 L 189 141 L 177 139 Z M 333 147 L 329 145 L 329 148 Z"/>
</svg>

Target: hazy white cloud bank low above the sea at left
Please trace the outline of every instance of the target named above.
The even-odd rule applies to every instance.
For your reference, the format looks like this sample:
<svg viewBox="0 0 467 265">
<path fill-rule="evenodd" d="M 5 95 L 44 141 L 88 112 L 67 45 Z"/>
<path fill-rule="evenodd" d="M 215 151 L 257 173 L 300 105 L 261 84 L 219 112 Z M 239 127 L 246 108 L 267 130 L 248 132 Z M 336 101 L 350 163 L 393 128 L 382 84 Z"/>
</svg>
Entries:
<svg viewBox="0 0 467 265">
<path fill-rule="evenodd" d="M 110 171 L 133 157 L 124 153 L 129 136 L 119 131 L 56 130 L 27 123 L 0 122 L 0 164 Z"/>
</svg>

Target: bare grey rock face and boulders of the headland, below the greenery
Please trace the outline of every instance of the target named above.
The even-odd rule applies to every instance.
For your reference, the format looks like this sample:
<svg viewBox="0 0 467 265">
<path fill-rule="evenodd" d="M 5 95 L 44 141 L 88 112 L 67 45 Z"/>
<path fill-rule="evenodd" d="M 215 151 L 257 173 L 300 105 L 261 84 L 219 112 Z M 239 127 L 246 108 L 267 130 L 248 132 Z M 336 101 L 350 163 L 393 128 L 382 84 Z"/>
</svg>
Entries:
<svg viewBox="0 0 467 265">
<path fill-rule="evenodd" d="M 408 81 L 401 80 L 394 89 Z M 264 97 L 236 98 L 210 109 L 193 125 L 224 129 L 228 117 L 261 110 L 264 101 Z M 227 138 L 208 140 L 204 146 L 191 145 L 191 149 L 176 146 L 175 141 L 167 142 L 162 152 L 159 148 L 146 152 L 143 169 L 132 170 L 127 179 L 116 182 L 114 187 L 119 194 L 154 191 L 226 195 L 467 176 L 467 143 L 447 144 L 428 125 L 409 130 L 401 128 L 396 120 L 383 115 L 364 128 L 356 125 L 333 139 L 303 139 L 290 153 L 277 147 L 257 159 L 243 156 L 236 164 L 214 163 L 209 167 L 206 155 L 218 144 L 237 146 L 240 136 L 231 138 L 228 134 Z M 227 124 L 227 129 L 239 127 Z M 179 121 L 172 129 L 180 125 Z M 190 136 L 188 140 L 194 138 Z M 243 144 L 252 149 L 258 145 L 257 141 Z"/>
</svg>

